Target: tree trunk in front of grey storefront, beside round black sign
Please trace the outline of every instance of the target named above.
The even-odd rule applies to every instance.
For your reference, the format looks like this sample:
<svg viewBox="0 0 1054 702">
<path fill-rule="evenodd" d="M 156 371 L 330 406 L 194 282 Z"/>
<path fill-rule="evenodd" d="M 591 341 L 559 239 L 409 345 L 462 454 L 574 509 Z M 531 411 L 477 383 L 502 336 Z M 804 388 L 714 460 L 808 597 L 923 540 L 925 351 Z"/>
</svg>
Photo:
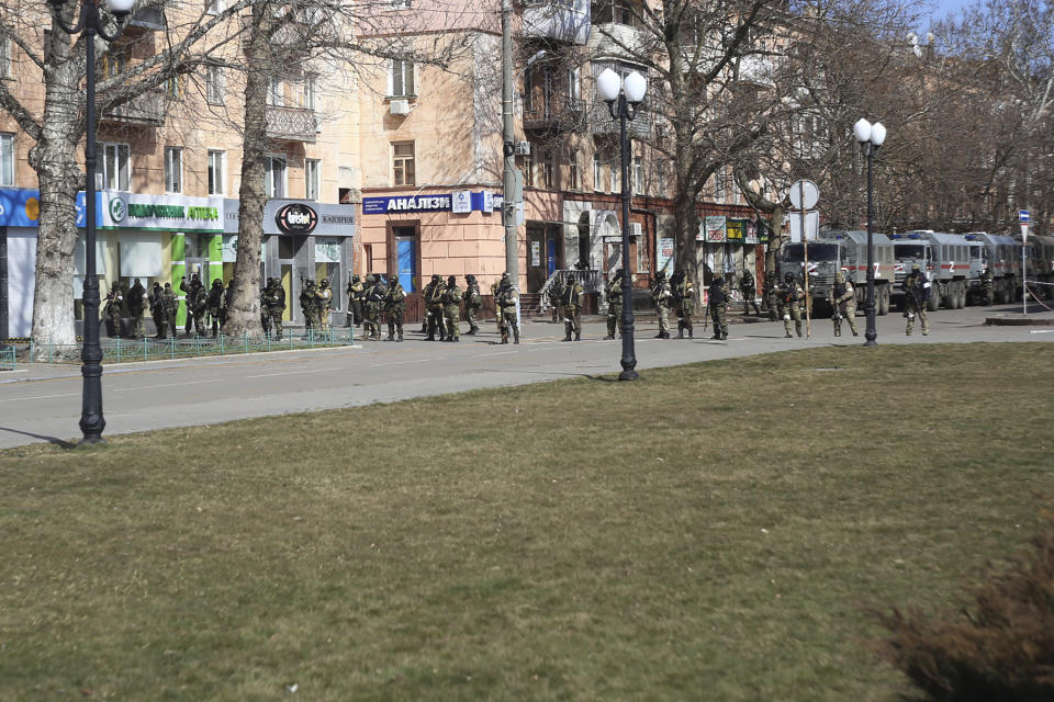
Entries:
<svg viewBox="0 0 1054 702">
<path fill-rule="evenodd" d="M 223 332 L 259 336 L 260 326 L 260 242 L 264 240 L 265 157 L 267 139 L 267 91 L 273 65 L 270 39 L 274 32 L 271 3 L 253 7 L 253 35 L 246 48 L 245 133 L 242 143 L 242 185 L 238 190 L 238 249 L 234 264 L 234 294 Z"/>
</svg>

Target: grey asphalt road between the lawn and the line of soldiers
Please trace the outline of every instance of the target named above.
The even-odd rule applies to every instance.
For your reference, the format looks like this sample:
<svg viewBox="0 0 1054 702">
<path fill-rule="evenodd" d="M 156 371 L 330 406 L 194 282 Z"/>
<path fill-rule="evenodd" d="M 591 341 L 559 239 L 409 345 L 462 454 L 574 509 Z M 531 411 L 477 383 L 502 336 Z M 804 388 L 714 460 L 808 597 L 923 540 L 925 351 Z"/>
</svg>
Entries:
<svg viewBox="0 0 1054 702">
<path fill-rule="evenodd" d="M 989 326 L 987 317 L 1021 307 L 968 307 L 930 313 L 930 336 L 906 337 L 898 314 L 877 318 L 878 343 L 1054 342 L 1054 326 Z M 1030 315 L 1032 317 L 1033 315 Z M 1035 317 L 1051 320 L 1052 313 Z M 653 316 L 638 319 L 640 373 L 648 369 L 819 346 L 864 342 L 843 324 L 836 338 L 829 319 L 814 320 L 808 338 L 785 339 L 782 322 L 740 321 L 730 315 L 728 341 L 654 339 Z M 676 321 L 674 320 L 674 325 Z M 462 325 L 467 327 L 467 325 Z M 603 320 L 585 325 L 580 342 L 564 343 L 562 325 L 526 322 L 524 342 L 501 346 L 494 324 L 461 342 L 426 342 L 407 327 L 404 343 L 360 342 L 355 347 L 153 361 L 104 366 L 104 435 L 166 427 L 212 424 L 269 415 L 386 403 L 480 387 L 601 375 L 621 370 L 620 341 L 602 341 Z M 710 336 L 708 329 L 706 337 Z M 76 441 L 82 380 L 76 365 L 20 364 L 0 372 L 0 449 L 36 441 Z"/>
</svg>

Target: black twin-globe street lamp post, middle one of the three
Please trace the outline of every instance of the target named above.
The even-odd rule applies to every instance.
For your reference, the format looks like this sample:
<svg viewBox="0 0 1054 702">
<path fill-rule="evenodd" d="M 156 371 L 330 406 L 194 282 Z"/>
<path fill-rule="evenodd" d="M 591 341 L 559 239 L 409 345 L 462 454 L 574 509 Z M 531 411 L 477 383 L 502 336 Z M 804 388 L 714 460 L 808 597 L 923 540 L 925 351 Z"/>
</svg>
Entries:
<svg viewBox="0 0 1054 702">
<path fill-rule="evenodd" d="M 629 138 L 626 135 L 626 121 L 637 116 L 637 109 L 644 99 L 648 81 L 637 71 L 625 79 L 610 68 L 605 68 L 596 77 L 596 89 L 601 99 L 607 103 L 612 117 L 618 120 L 619 147 L 623 157 L 623 372 L 620 381 L 636 381 L 637 352 L 633 349 L 633 282 L 629 273 Z"/>
</svg>

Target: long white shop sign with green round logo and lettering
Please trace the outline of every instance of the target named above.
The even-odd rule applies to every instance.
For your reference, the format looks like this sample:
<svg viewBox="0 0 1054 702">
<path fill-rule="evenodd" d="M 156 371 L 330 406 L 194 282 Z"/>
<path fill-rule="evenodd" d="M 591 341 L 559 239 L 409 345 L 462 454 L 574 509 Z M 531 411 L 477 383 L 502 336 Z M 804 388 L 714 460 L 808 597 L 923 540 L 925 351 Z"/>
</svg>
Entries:
<svg viewBox="0 0 1054 702">
<path fill-rule="evenodd" d="M 223 231 L 223 197 L 103 191 L 100 227 L 164 231 Z"/>
</svg>

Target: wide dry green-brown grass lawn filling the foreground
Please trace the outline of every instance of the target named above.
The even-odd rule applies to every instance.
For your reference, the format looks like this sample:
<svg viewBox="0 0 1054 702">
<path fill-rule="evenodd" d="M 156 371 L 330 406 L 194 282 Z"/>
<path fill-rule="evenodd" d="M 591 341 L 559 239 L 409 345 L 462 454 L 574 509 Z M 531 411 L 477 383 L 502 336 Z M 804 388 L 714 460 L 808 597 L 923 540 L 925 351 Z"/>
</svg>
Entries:
<svg viewBox="0 0 1054 702">
<path fill-rule="evenodd" d="M 955 602 L 1040 529 L 1050 351 L 825 348 L 2 452 L 0 699 L 895 701 L 863 609 Z"/>
</svg>

